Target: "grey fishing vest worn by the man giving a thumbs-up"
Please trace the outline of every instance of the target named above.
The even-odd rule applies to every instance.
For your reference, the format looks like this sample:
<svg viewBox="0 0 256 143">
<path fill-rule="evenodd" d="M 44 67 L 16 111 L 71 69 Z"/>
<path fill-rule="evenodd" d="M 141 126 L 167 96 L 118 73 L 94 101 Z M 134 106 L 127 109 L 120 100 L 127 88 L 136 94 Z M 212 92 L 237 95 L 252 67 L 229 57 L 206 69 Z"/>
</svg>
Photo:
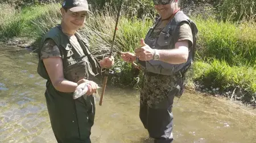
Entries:
<svg viewBox="0 0 256 143">
<path fill-rule="evenodd" d="M 152 49 L 174 49 L 175 43 L 177 42 L 177 27 L 183 23 L 187 23 L 190 25 L 193 35 L 193 45 L 189 47 L 189 56 L 186 63 L 182 64 L 170 64 L 166 62 L 162 62 L 160 60 L 149 60 L 146 63 L 143 63 L 146 67 L 147 72 L 158 73 L 161 75 L 174 75 L 175 73 L 184 70 L 192 64 L 192 60 L 195 57 L 196 51 L 196 34 L 198 32 L 196 24 L 188 18 L 182 11 L 178 11 L 174 18 L 170 20 L 166 27 L 163 28 L 162 32 L 160 32 L 158 38 L 150 38 L 152 31 L 158 25 L 160 18 L 156 21 L 153 27 L 147 32 L 145 37 L 145 42 Z M 139 62 L 142 63 L 142 62 Z"/>
</svg>

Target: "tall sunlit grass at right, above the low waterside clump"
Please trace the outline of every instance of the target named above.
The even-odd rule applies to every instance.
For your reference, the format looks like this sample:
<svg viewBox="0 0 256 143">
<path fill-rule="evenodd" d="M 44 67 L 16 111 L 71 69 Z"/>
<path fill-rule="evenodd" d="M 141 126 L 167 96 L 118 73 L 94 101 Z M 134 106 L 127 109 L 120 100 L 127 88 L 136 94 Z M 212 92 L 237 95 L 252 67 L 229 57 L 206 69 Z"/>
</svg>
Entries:
<svg viewBox="0 0 256 143">
<path fill-rule="evenodd" d="M 230 66 L 256 64 L 256 23 L 218 22 L 214 19 L 195 19 L 199 28 L 200 58 L 225 60 Z"/>
</svg>

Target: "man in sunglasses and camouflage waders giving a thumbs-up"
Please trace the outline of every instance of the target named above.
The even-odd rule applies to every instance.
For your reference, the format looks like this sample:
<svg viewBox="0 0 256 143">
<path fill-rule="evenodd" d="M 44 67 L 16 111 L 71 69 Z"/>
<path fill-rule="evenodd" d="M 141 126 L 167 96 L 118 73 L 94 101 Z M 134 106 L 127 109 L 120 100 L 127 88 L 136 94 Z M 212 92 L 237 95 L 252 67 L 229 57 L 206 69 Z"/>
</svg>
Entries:
<svg viewBox="0 0 256 143">
<path fill-rule="evenodd" d="M 126 62 L 145 67 L 139 117 L 155 143 L 170 143 L 172 104 L 181 96 L 184 76 L 195 55 L 197 28 L 178 7 L 177 0 L 154 0 L 160 18 L 135 54 L 122 53 Z"/>
</svg>

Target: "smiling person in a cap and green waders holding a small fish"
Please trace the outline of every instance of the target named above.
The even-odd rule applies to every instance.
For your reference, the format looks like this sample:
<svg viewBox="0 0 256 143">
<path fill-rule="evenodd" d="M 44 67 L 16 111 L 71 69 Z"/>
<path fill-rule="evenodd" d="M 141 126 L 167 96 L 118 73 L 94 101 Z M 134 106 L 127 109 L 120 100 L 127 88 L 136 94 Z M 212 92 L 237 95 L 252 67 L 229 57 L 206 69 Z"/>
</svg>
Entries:
<svg viewBox="0 0 256 143">
<path fill-rule="evenodd" d="M 97 62 L 88 50 L 88 41 L 77 29 L 84 26 L 89 12 L 86 0 L 66 0 L 61 7 L 61 24 L 47 32 L 39 46 L 38 73 L 46 83 L 46 102 L 57 142 L 89 143 L 94 123 L 92 81 L 101 68 L 110 68 L 113 57 Z M 87 98 L 73 99 L 76 87 L 88 82 Z"/>
</svg>

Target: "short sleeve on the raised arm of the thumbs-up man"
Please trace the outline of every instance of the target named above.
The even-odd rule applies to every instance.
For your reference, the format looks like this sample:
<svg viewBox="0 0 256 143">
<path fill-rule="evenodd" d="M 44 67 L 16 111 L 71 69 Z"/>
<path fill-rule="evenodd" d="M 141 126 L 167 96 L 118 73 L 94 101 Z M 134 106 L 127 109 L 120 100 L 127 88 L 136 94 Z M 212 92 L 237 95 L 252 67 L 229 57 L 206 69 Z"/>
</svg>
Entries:
<svg viewBox="0 0 256 143">
<path fill-rule="evenodd" d="M 182 41 L 182 40 L 188 40 L 189 41 L 189 47 L 193 44 L 193 35 L 192 35 L 192 30 L 189 24 L 183 23 L 178 27 L 178 37 L 177 41 Z"/>
</svg>

